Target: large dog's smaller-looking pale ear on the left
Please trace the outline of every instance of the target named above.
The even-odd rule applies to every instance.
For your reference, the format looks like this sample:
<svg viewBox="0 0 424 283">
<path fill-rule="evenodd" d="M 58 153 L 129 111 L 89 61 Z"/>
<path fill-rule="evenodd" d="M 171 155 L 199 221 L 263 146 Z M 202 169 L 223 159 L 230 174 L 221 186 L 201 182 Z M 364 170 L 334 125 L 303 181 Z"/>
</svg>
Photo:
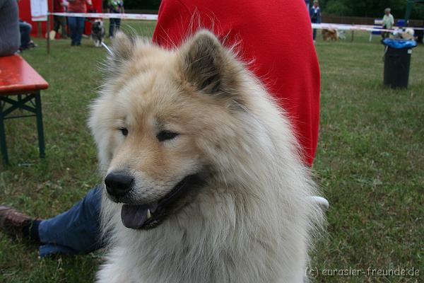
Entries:
<svg viewBox="0 0 424 283">
<path fill-rule="evenodd" d="M 107 69 L 112 74 L 118 74 L 122 65 L 131 59 L 136 45 L 136 37 L 118 31 L 112 40 L 112 54 L 107 60 Z"/>
</svg>

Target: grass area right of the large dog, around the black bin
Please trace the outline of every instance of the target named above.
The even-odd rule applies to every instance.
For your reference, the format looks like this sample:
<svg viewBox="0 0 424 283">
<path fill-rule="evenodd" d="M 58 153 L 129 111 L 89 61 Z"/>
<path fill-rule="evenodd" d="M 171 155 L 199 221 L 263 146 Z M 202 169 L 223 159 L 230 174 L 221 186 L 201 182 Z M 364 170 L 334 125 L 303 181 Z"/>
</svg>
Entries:
<svg viewBox="0 0 424 283">
<path fill-rule="evenodd" d="M 424 48 L 413 50 L 409 88 L 382 86 L 383 46 L 318 42 L 322 70 L 317 171 L 328 197 L 318 270 L 420 268 L 418 277 L 320 277 L 322 282 L 423 282 Z"/>
</svg>

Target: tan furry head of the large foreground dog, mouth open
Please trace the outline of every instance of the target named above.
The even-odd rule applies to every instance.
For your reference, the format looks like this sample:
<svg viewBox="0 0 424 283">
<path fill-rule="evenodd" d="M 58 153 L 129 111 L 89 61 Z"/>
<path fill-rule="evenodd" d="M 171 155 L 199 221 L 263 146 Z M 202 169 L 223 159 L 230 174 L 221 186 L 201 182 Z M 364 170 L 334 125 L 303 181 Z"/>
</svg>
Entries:
<svg viewBox="0 0 424 283">
<path fill-rule="evenodd" d="M 244 67 L 205 30 L 176 50 L 118 33 L 112 53 L 89 125 L 124 225 L 151 229 L 199 190 L 211 154 L 235 138 Z"/>
</svg>

